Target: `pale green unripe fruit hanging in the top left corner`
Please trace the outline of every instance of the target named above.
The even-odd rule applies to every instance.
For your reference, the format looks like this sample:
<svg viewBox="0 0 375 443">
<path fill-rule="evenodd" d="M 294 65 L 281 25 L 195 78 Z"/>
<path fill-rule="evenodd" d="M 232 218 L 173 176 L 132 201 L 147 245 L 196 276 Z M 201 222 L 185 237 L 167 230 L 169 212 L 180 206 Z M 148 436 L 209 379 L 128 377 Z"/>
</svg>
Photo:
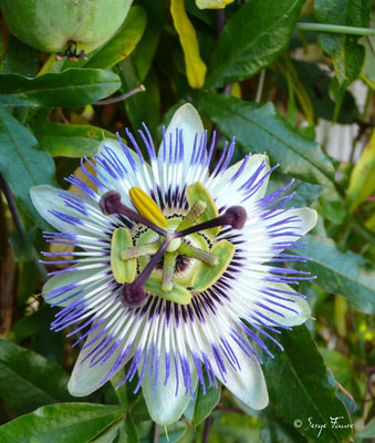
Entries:
<svg viewBox="0 0 375 443">
<path fill-rule="evenodd" d="M 1 0 L 6 22 L 18 39 L 44 52 L 69 41 L 86 53 L 118 30 L 133 0 Z"/>
</svg>

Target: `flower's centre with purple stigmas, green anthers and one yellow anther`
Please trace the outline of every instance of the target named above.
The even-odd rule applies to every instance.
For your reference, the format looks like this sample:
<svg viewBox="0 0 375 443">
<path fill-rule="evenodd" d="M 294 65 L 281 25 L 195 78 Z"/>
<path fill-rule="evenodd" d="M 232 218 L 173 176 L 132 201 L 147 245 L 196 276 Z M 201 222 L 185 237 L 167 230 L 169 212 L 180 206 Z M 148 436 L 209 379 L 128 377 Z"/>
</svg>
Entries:
<svg viewBox="0 0 375 443">
<path fill-rule="evenodd" d="M 167 219 L 156 203 L 142 189 L 133 187 L 129 197 L 134 207 L 121 203 L 121 195 L 106 193 L 100 206 L 106 215 L 122 214 L 135 224 L 147 227 L 117 228 L 111 243 L 111 266 L 114 278 L 123 285 L 124 305 L 137 308 L 147 301 L 148 293 L 188 305 L 192 292 L 211 287 L 230 264 L 235 246 L 218 240 L 221 226 L 241 229 L 247 213 L 231 206 L 219 215 L 215 200 L 206 187 L 197 182 L 187 187 L 189 210 Z"/>
</svg>

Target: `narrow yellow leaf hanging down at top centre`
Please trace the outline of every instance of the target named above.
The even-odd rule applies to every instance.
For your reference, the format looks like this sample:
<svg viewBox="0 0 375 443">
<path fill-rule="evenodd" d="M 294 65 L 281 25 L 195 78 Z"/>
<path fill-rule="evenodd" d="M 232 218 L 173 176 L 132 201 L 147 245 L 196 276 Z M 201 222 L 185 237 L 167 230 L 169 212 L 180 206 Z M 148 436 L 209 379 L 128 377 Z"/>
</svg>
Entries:
<svg viewBox="0 0 375 443">
<path fill-rule="evenodd" d="M 207 66 L 200 58 L 197 33 L 185 11 L 184 0 L 171 0 L 170 13 L 184 50 L 189 85 L 199 89 L 205 84 Z"/>
</svg>

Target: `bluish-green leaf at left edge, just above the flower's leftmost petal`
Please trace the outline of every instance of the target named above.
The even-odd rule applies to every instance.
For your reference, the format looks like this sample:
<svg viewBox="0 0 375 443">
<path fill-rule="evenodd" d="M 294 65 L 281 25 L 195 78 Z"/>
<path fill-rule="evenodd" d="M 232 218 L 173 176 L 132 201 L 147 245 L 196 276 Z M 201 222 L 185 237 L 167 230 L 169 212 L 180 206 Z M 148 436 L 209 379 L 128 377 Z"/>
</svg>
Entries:
<svg viewBox="0 0 375 443">
<path fill-rule="evenodd" d="M 41 184 L 56 185 L 53 159 L 38 145 L 32 133 L 1 107 L 0 171 L 29 215 L 45 226 L 31 203 L 29 190 Z"/>
</svg>

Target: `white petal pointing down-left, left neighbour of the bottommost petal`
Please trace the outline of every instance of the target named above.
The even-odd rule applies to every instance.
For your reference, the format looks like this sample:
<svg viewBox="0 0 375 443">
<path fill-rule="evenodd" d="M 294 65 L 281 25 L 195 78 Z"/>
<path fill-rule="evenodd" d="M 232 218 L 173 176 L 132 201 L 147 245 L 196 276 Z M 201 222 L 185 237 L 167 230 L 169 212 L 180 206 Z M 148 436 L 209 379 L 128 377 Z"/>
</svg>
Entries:
<svg viewBox="0 0 375 443">
<path fill-rule="evenodd" d="M 90 343 L 95 337 L 97 337 L 105 328 L 105 324 L 106 322 L 102 323 L 95 330 L 93 330 L 88 334 L 85 344 Z M 102 381 L 107 375 L 107 373 L 116 362 L 117 358 L 124 350 L 124 344 L 121 344 L 103 365 L 101 365 L 101 363 L 97 363 L 93 368 L 90 368 L 92 357 L 90 357 L 82 363 L 84 358 L 95 348 L 95 346 L 101 342 L 101 340 L 102 338 L 97 339 L 97 341 L 95 341 L 87 349 L 82 350 L 77 361 L 75 362 L 71 379 L 67 384 L 69 392 L 74 396 L 85 396 L 100 389 L 102 385 Z M 126 356 L 122 364 L 117 368 L 117 370 L 113 373 L 113 375 L 117 371 L 119 371 L 124 367 L 124 364 L 126 364 L 126 362 L 133 357 L 133 354 L 134 351 L 128 352 L 128 354 Z"/>
</svg>

